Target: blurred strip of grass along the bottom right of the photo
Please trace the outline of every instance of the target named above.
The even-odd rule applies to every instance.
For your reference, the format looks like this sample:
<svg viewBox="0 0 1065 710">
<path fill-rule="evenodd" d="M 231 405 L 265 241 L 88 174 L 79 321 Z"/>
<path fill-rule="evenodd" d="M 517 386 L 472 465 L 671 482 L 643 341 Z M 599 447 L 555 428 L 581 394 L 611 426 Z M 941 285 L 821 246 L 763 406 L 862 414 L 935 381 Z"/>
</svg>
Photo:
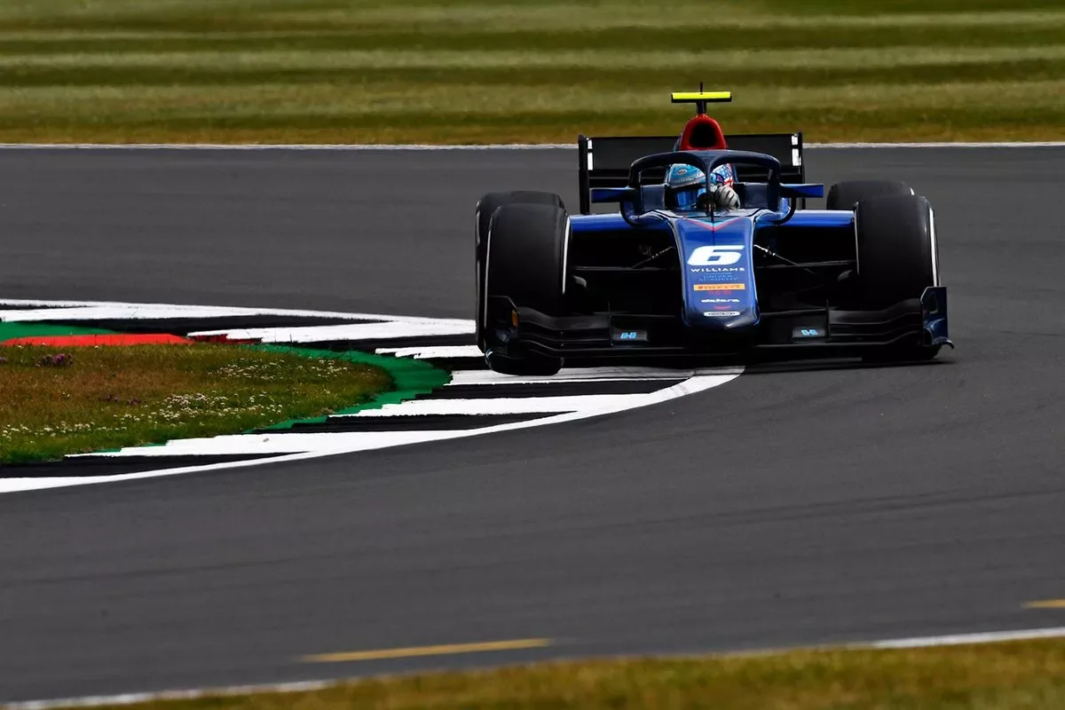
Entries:
<svg viewBox="0 0 1065 710">
<path fill-rule="evenodd" d="M 543 663 L 370 679 L 313 692 L 124 707 L 1050 710 L 1065 707 L 1065 642 Z"/>
</svg>

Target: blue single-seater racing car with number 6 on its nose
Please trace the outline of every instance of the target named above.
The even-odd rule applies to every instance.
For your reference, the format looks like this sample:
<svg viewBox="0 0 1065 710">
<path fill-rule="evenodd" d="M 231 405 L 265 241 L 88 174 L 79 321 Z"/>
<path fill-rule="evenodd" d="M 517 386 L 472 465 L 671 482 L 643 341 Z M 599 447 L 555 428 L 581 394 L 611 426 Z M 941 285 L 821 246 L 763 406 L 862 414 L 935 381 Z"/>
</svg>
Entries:
<svg viewBox="0 0 1065 710">
<path fill-rule="evenodd" d="M 912 361 L 953 347 L 935 215 L 898 180 L 806 183 L 802 134 L 726 136 L 694 103 L 679 136 L 578 136 L 579 214 L 552 193 L 476 208 L 476 334 L 488 366 L 720 359 Z M 672 166 L 733 166 L 739 205 L 670 203 Z M 698 174 L 697 174 L 698 175 Z M 592 205 L 609 205 L 593 212 Z"/>
</svg>

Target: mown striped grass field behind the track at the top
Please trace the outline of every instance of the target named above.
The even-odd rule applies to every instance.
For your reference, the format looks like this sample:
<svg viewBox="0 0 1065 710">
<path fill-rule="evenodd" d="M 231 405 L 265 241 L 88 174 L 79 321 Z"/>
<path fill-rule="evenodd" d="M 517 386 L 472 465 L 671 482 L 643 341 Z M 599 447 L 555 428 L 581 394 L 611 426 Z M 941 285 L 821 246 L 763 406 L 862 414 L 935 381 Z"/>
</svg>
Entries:
<svg viewBox="0 0 1065 710">
<path fill-rule="evenodd" d="M 0 141 L 1065 138 L 1059 0 L 0 0 Z"/>
</svg>

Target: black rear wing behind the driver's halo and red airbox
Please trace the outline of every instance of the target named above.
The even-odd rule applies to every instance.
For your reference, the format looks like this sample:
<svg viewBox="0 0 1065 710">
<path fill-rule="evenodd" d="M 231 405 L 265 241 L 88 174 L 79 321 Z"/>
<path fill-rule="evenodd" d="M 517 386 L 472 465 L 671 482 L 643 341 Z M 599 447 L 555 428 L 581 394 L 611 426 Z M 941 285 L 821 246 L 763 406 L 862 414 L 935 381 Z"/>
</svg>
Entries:
<svg viewBox="0 0 1065 710">
<path fill-rule="evenodd" d="M 806 182 L 802 164 L 802 133 L 748 133 L 726 135 L 730 150 L 768 153 L 781 162 L 781 182 Z M 628 168 L 633 161 L 654 153 L 674 150 L 677 138 L 666 136 L 577 137 L 578 189 L 580 214 L 591 214 L 593 187 L 624 187 L 628 184 Z M 738 182 L 764 182 L 768 172 L 755 165 L 737 165 Z M 648 170 L 642 181 L 663 182 L 665 169 Z"/>
</svg>

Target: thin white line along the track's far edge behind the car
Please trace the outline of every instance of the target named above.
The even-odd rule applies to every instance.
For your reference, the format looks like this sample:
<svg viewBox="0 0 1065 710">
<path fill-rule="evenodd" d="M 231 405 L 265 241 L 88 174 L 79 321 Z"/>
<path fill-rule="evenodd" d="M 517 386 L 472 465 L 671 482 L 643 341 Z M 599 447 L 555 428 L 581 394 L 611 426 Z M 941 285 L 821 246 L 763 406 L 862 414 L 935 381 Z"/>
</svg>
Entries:
<svg viewBox="0 0 1065 710">
<path fill-rule="evenodd" d="M 1063 148 L 1063 141 L 988 142 L 988 143 L 807 143 L 804 149 L 861 148 L 884 150 L 895 148 Z M 576 150 L 576 143 L 543 144 L 213 144 L 213 143 L 0 143 L 0 150 L 344 150 L 344 151 L 485 151 L 485 150 Z"/>
</svg>

